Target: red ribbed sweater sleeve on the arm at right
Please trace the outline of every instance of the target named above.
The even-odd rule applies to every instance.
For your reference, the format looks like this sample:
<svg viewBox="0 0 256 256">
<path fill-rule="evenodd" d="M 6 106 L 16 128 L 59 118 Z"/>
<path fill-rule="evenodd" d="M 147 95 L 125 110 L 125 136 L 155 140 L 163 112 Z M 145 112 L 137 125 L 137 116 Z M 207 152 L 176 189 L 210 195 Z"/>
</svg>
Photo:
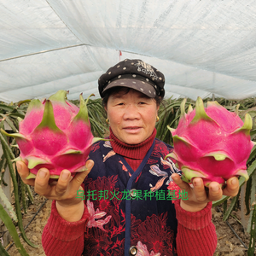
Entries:
<svg viewBox="0 0 256 256">
<path fill-rule="evenodd" d="M 217 247 L 217 235 L 212 224 L 212 202 L 200 212 L 187 212 L 174 201 L 177 218 L 177 255 L 212 256 Z"/>
</svg>

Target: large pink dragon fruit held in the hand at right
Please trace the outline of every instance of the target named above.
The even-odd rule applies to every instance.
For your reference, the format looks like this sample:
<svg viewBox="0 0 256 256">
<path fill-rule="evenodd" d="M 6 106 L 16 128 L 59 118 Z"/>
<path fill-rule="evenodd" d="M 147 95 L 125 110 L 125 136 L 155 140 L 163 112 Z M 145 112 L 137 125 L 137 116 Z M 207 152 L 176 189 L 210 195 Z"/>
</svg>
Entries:
<svg viewBox="0 0 256 256">
<path fill-rule="evenodd" d="M 234 176 L 248 179 L 247 159 L 254 143 L 250 139 L 252 119 L 247 113 L 245 122 L 235 113 L 229 112 L 218 102 L 207 102 L 204 108 L 200 97 L 195 109 L 189 106 L 185 113 L 186 99 L 181 104 L 181 118 L 172 132 L 174 150 L 166 157 L 177 160 L 183 172 L 183 180 L 191 182 L 201 177 L 206 186 L 216 181 L 224 184 Z"/>
</svg>

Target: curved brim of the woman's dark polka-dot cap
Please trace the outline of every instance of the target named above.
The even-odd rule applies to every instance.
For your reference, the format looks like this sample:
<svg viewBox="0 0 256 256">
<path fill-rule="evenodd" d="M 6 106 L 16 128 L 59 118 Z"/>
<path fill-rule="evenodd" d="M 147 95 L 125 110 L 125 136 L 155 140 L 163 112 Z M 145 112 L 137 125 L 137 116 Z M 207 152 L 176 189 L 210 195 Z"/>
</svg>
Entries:
<svg viewBox="0 0 256 256">
<path fill-rule="evenodd" d="M 122 86 L 122 87 L 128 87 L 137 91 L 140 91 L 141 93 L 145 94 L 149 98 L 154 98 L 156 96 L 156 91 L 154 90 L 153 85 L 148 84 L 144 81 L 138 80 L 138 79 L 119 79 L 115 80 L 112 83 L 108 84 L 104 90 L 102 90 L 102 93 L 104 94 L 106 90 L 109 90 L 113 87 Z"/>
</svg>

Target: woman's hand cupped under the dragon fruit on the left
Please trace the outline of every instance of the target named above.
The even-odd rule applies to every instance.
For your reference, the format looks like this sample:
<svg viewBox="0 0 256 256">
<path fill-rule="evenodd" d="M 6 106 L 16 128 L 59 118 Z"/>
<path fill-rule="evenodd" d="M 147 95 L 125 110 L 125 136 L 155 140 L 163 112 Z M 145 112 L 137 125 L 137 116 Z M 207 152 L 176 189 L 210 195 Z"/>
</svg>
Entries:
<svg viewBox="0 0 256 256">
<path fill-rule="evenodd" d="M 94 166 L 93 160 L 86 162 L 87 171 L 78 172 L 74 177 L 68 170 L 63 170 L 58 181 L 53 184 L 49 184 L 49 170 L 46 168 L 40 169 L 35 179 L 26 179 L 29 174 L 26 164 L 18 161 L 16 166 L 24 183 L 34 186 L 38 195 L 44 195 L 56 201 L 57 210 L 62 218 L 67 221 L 77 221 L 81 218 L 84 212 L 84 202 L 77 198 L 77 191 L 83 190 L 81 184 Z"/>
</svg>

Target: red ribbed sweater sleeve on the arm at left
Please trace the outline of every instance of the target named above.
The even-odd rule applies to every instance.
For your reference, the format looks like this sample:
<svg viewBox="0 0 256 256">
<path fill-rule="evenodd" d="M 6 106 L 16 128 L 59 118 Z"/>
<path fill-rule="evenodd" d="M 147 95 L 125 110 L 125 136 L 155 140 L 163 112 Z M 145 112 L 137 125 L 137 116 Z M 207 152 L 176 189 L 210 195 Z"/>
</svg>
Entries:
<svg viewBox="0 0 256 256">
<path fill-rule="evenodd" d="M 88 223 L 89 212 L 84 206 L 84 214 L 77 222 L 61 218 L 52 202 L 51 213 L 42 235 L 42 245 L 47 256 L 77 256 L 84 250 L 84 230 Z"/>
</svg>

